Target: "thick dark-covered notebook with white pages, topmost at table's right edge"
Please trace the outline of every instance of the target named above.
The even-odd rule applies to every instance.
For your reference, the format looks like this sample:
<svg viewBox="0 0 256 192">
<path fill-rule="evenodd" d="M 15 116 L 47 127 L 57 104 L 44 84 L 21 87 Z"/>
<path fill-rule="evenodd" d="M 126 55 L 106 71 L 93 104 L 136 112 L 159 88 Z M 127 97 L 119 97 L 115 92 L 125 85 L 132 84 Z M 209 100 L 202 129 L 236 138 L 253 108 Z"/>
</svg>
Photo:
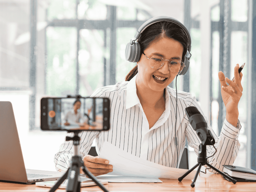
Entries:
<svg viewBox="0 0 256 192">
<path fill-rule="evenodd" d="M 245 167 L 223 165 L 223 172 L 227 173 L 232 177 L 256 180 L 256 171 Z"/>
</svg>

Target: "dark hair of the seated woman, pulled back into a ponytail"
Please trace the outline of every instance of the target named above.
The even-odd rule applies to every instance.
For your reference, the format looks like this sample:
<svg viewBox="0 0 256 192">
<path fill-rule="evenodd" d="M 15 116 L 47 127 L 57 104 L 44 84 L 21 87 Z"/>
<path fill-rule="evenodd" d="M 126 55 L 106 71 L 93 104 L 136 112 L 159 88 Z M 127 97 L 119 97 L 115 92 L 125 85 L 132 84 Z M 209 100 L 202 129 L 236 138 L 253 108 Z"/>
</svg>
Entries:
<svg viewBox="0 0 256 192">
<path fill-rule="evenodd" d="M 183 46 L 182 61 L 185 61 L 185 56 L 188 48 L 188 37 L 185 31 L 175 23 L 168 21 L 160 21 L 148 26 L 138 39 L 141 46 L 141 53 L 150 46 L 154 41 L 161 38 L 168 37 L 179 41 Z M 130 81 L 138 73 L 138 66 L 136 65 L 125 77 L 125 81 Z"/>
</svg>

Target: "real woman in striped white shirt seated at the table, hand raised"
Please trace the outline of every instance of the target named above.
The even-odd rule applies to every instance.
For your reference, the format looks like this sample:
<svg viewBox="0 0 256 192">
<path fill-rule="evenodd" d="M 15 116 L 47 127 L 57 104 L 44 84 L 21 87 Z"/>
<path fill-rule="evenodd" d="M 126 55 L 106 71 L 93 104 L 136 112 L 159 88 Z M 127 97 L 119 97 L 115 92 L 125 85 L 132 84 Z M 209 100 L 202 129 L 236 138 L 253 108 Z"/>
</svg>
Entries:
<svg viewBox="0 0 256 192">
<path fill-rule="evenodd" d="M 80 134 L 83 141 L 80 155 L 85 166 L 95 176 L 112 172 L 113 166 L 109 165 L 106 159 L 87 155 L 94 138 L 96 138 L 98 154 L 103 143 L 108 141 L 127 153 L 148 161 L 168 167 L 176 167 L 179 164 L 174 142 L 176 91 L 168 85 L 179 73 L 172 69 L 171 62 L 175 60 L 183 67 L 188 37 L 178 25 L 172 22 L 158 22 L 148 26 L 138 42 L 142 54 L 137 66 L 126 76 L 126 81 L 99 88 L 92 94 L 92 97 L 108 97 L 111 101 L 110 130 Z M 156 57 L 164 60 L 160 68 L 154 66 L 152 68 L 152 61 L 153 59 L 156 61 Z M 222 165 L 233 164 L 240 147 L 237 137 L 241 125 L 238 121 L 237 106 L 242 95 L 242 73 L 239 76 L 238 68 L 237 65 L 234 70 L 234 82 L 219 72 L 221 94 L 227 116 L 218 138 L 208 124 L 215 137 L 217 148 L 217 153 L 208 160 L 221 171 Z M 201 114 L 203 112 L 190 93 L 178 91 L 177 96 L 178 157 L 184 150 L 185 138 L 198 155 L 201 142 L 188 122 L 184 110 L 188 106 L 196 106 Z M 60 146 L 59 152 L 55 155 L 57 170 L 67 170 L 68 164 L 65 162 L 68 162 L 72 156 L 71 149 L 73 150 L 73 146 L 69 142 L 64 142 Z M 208 157 L 214 152 L 214 147 L 207 146 Z"/>
</svg>

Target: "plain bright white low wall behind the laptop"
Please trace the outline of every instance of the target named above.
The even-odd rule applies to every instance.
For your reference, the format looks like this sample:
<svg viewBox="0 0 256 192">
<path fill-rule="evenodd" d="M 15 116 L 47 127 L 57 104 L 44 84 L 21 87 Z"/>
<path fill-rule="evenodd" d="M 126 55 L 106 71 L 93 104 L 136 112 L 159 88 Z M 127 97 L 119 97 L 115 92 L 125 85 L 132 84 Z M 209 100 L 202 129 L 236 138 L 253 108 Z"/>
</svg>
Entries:
<svg viewBox="0 0 256 192">
<path fill-rule="evenodd" d="M 25 167 L 55 171 L 54 154 L 67 133 L 29 131 L 29 93 L 0 91 L 0 101 L 12 102 Z"/>
</svg>

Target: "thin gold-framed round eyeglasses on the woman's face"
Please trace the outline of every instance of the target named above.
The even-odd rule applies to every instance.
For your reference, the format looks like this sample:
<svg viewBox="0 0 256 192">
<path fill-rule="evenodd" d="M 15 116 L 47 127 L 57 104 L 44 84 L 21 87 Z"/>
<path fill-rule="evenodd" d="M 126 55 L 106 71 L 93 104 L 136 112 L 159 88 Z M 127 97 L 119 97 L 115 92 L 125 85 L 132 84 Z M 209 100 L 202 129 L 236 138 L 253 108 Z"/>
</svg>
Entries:
<svg viewBox="0 0 256 192">
<path fill-rule="evenodd" d="M 147 56 L 146 58 L 149 59 Z M 164 61 L 169 61 L 169 60 L 167 59 L 164 60 L 162 57 L 153 56 L 149 59 L 149 66 L 153 69 L 159 69 L 164 65 Z M 170 71 L 178 74 L 182 71 L 184 67 L 186 67 L 182 61 L 177 61 L 177 60 L 169 61 L 168 66 Z"/>
</svg>

